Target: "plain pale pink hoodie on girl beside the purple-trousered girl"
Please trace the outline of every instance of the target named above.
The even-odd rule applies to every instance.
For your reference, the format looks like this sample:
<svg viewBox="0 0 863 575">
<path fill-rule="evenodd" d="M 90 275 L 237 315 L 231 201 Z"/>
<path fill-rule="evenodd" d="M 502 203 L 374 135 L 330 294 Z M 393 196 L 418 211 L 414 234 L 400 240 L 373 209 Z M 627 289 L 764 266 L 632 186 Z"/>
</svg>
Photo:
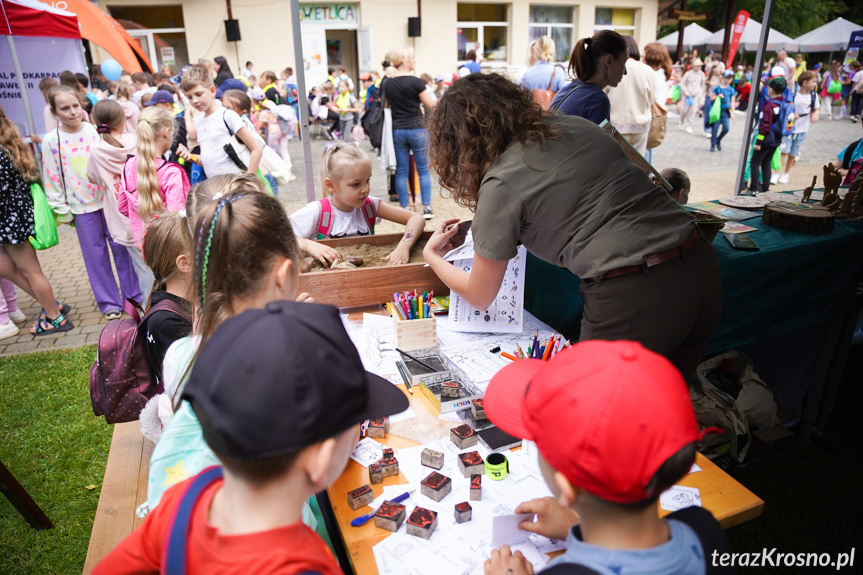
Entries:
<svg viewBox="0 0 863 575">
<path fill-rule="evenodd" d="M 115 148 L 108 142 L 100 140 L 90 148 L 90 157 L 87 158 L 87 179 L 105 188 L 103 210 L 108 232 L 115 242 L 128 247 L 135 245 L 135 238 L 132 235 L 129 218 L 120 213 L 117 205 L 122 180 L 120 172 L 123 171 L 126 159 L 135 154 L 137 138 L 132 134 L 123 134 L 120 136 L 120 143 L 123 147 Z"/>
</svg>

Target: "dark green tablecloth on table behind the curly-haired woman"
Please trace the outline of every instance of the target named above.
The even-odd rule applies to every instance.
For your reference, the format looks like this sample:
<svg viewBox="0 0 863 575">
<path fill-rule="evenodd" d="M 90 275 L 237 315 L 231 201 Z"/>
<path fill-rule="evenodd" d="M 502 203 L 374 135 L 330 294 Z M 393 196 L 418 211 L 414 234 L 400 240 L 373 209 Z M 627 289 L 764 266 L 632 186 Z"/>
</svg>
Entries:
<svg viewBox="0 0 863 575">
<path fill-rule="evenodd" d="M 743 223 L 758 228 L 751 237 L 761 250 L 733 250 L 722 234 L 714 240 L 725 307 L 708 353 L 821 325 L 848 310 L 863 273 L 863 224 L 837 220 L 830 233 L 810 235 L 771 228 L 760 212 Z M 579 283 L 569 271 L 528 254 L 525 308 L 575 340 L 583 308 Z"/>
</svg>

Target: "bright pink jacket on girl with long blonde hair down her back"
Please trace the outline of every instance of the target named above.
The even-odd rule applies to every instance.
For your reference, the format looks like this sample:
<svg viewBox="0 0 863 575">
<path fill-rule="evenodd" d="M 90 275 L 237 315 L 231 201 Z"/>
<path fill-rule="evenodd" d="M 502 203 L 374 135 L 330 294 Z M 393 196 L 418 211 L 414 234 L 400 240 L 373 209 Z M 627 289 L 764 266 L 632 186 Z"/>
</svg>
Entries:
<svg viewBox="0 0 863 575">
<path fill-rule="evenodd" d="M 179 212 L 186 209 L 186 196 L 189 195 L 189 177 L 173 162 L 161 158 L 156 160 L 156 175 L 159 178 L 159 193 L 166 212 Z M 129 158 L 123 167 L 123 183 L 120 186 L 118 205 L 120 213 L 129 216 L 135 246 L 141 249 L 141 240 L 149 222 L 145 223 L 138 215 L 138 157 Z"/>
</svg>

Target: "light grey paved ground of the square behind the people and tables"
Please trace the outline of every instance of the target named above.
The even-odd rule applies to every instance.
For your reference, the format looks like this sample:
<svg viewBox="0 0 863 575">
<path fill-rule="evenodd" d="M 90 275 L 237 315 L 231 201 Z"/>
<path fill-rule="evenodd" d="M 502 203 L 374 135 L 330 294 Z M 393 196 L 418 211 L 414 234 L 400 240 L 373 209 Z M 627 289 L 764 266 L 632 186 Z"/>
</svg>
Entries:
<svg viewBox="0 0 863 575">
<path fill-rule="evenodd" d="M 654 165 L 659 169 L 677 167 L 685 170 L 692 180 L 691 201 L 711 200 L 734 193 L 734 179 L 737 170 L 738 150 L 740 149 L 743 125 L 742 117 L 732 121 L 731 132 L 725 137 L 722 152 L 710 153 L 710 141 L 698 133 L 687 134 L 677 129 L 677 118 L 669 117 L 669 130 L 665 142 L 657 148 L 654 154 Z M 785 185 L 776 185 L 772 189 L 802 189 L 809 185 L 813 175 L 821 175 L 821 166 L 831 161 L 835 154 L 848 143 L 860 138 L 859 124 L 848 121 L 820 122 L 814 124 L 803 145 L 801 163 L 795 166 L 791 181 Z M 313 171 L 318 174 L 318 165 L 324 144 L 323 139 L 313 139 L 312 158 Z M 279 198 L 289 211 L 293 211 L 306 203 L 305 184 L 303 180 L 302 146 L 299 141 L 290 143 L 291 157 L 294 160 L 294 173 L 297 179 L 280 192 Z M 361 148 L 373 158 L 372 194 L 386 197 L 387 186 L 384 173 L 380 169 L 377 158 L 368 142 L 363 142 Z M 417 198 L 419 203 L 419 198 Z M 443 198 L 435 186 L 432 193 L 432 208 L 436 218 L 426 224 L 427 229 L 433 228 L 446 218 L 470 218 L 470 212 L 461 208 L 450 199 Z M 380 232 L 396 231 L 400 226 L 384 222 L 378 228 Z M 54 293 L 63 303 L 73 306 L 70 314 L 75 328 L 58 336 L 34 337 L 27 333 L 29 324 L 22 326 L 21 334 L 0 340 L 0 356 L 26 353 L 38 350 L 78 347 L 95 343 L 106 320 L 96 308 L 84 263 L 81 259 L 81 249 L 75 231 L 68 226 L 60 229 L 60 244 L 50 250 L 39 252 L 39 259 L 45 270 Z M 35 321 L 39 305 L 29 296 L 19 290 L 18 304 L 20 308 Z"/>
</svg>

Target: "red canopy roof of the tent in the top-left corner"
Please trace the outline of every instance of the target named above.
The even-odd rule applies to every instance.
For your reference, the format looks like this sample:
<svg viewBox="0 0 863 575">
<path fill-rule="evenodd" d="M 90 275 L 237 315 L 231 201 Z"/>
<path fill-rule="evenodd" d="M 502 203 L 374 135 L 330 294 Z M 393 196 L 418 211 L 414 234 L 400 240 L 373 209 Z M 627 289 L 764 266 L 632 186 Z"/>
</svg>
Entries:
<svg viewBox="0 0 863 575">
<path fill-rule="evenodd" d="M 78 19 L 70 12 L 47 6 L 37 0 L 4 0 L 0 2 L 3 18 L 2 36 L 39 36 L 45 38 L 81 39 Z"/>
</svg>

